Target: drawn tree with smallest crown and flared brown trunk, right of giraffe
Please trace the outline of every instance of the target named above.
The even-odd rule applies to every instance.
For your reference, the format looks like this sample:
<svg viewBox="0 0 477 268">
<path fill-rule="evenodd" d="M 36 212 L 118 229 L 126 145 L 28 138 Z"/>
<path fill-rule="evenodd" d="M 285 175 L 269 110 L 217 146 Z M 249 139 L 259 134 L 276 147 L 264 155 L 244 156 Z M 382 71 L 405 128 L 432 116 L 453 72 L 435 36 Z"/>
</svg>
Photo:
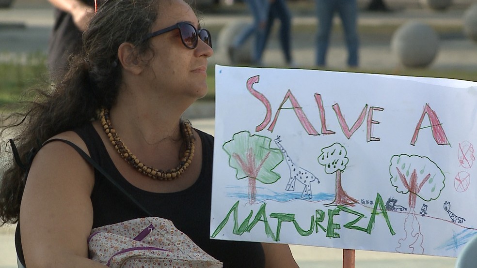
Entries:
<svg viewBox="0 0 477 268">
<path fill-rule="evenodd" d="M 321 154 L 318 156 L 318 163 L 325 166 L 326 174 L 336 173 L 336 187 L 334 190 L 334 201 L 325 206 L 342 206 L 350 205 L 354 207 L 354 203 L 358 203 L 358 200 L 348 195 L 343 186 L 341 185 L 341 173 L 348 164 L 348 157 L 346 157 L 346 149 L 339 143 L 334 143 L 331 146 L 321 149 Z"/>
</svg>

